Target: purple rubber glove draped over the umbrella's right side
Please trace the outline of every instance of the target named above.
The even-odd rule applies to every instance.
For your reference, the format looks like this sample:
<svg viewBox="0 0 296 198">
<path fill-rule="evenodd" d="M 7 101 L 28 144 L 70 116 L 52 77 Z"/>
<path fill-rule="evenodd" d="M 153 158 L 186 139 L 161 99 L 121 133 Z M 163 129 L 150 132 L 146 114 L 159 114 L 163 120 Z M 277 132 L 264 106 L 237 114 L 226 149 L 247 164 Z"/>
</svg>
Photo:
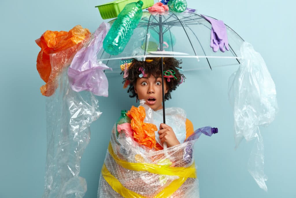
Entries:
<svg viewBox="0 0 296 198">
<path fill-rule="evenodd" d="M 229 51 L 226 26 L 223 21 L 205 15 L 202 15 L 202 17 L 212 24 L 210 47 L 213 48 L 213 51 L 217 52 L 218 48 L 220 48 L 221 52 L 225 52 L 225 49 Z"/>
</svg>

